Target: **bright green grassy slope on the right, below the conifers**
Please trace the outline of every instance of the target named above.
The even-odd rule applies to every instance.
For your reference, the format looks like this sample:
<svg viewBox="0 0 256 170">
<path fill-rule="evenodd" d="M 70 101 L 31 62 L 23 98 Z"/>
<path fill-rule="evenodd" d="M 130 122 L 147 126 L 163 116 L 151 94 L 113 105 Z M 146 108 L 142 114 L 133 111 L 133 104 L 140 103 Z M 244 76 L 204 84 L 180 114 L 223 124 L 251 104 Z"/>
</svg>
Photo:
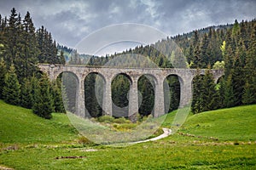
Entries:
<svg viewBox="0 0 256 170">
<path fill-rule="evenodd" d="M 180 132 L 225 141 L 255 141 L 255 126 L 256 105 L 247 105 L 189 116 Z"/>
</svg>

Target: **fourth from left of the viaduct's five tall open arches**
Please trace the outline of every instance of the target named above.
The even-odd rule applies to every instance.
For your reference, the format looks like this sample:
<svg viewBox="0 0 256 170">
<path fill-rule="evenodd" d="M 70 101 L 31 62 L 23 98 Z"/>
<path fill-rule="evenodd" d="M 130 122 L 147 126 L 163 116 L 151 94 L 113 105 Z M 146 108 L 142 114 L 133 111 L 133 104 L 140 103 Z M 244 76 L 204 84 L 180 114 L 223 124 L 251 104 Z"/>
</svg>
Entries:
<svg viewBox="0 0 256 170">
<path fill-rule="evenodd" d="M 154 115 L 157 78 L 151 74 L 143 74 L 137 79 L 138 112 L 142 116 Z M 147 95 L 146 95 L 147 94 Z"/>
</svg>

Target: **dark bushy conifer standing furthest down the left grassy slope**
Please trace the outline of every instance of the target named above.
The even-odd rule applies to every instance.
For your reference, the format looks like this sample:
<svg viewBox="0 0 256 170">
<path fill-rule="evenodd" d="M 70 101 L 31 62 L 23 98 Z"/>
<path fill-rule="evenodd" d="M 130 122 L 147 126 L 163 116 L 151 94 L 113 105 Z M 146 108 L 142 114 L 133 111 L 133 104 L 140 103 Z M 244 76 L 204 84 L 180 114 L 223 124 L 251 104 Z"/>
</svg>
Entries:
<svg viewBox="0 0 256 170">
<path fill-rule="evenodd" d="M 51 113 L 55 111 L 55 108 L 54 100 L 50 94 L 50 82 L 45 74 L 39 79 L 38 88 L 34 90 L 32 111 L 38 116 L 50 119 Z"/>
</svg>

